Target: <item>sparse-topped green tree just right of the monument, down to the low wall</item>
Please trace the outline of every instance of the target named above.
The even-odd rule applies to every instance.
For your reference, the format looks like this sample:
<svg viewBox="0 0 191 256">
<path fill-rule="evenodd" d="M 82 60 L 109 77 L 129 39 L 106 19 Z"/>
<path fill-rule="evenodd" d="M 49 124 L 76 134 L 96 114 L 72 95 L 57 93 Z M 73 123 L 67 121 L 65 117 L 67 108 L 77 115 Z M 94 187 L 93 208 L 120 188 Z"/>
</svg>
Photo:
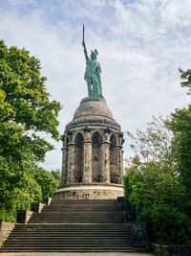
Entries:
<svg viewBox="0 0 191 256">
<path fill-rule="evenodd" d="M 128 133 L 135 155 L 124 176 L 125 197 L 138 221 L 148 221 L 151 241 L 191 244 L 186 187 L 177 172 L 175 138 L 166 123 L 161 117 L 154 118 L 145 132 Z"/>
</svg>

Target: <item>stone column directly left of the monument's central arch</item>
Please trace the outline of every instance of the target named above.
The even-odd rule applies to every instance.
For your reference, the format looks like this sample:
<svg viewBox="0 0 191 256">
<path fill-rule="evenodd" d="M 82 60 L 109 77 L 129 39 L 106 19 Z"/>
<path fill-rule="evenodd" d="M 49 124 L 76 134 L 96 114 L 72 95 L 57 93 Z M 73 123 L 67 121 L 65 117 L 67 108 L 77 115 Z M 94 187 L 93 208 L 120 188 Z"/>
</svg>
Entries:
<svg viewBox="0 0 191 256">
<path fill-rule="evenodd" d="M 84 140 L 83 183 L 92 183 L 92 141 Z"/>
</svg>

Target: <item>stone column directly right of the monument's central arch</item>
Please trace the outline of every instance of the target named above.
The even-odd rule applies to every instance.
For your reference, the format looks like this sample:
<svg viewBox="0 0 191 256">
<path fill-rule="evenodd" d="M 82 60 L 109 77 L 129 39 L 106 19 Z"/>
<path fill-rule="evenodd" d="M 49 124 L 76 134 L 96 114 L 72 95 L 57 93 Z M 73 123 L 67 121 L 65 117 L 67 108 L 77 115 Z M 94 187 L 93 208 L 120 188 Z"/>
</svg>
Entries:
<svg viewBox="0 0 191 256">
<path fill-rule="evenodd" d="M 110 142 L 101 143 L 101 175 L 104 183 L 110 183 Z"/>
</svg>

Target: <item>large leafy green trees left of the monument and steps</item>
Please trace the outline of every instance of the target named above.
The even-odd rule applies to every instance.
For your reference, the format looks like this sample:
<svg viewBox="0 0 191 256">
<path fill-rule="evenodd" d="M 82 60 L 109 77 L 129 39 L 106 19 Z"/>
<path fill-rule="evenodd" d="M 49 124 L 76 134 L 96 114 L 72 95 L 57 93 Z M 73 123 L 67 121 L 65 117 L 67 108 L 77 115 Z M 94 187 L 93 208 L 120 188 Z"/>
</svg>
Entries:
<svg viewBox="0 0 191 256">
<path fill-rule="evenodd" d="M 57 115 L 40 62 L 30 52 L 0 41 L 0 221 L 15 221 L 16 209 L 53 194 L 56 174 L 39 168 L 53 145 L 39 131 L 59 139 Z"/>
</svg>

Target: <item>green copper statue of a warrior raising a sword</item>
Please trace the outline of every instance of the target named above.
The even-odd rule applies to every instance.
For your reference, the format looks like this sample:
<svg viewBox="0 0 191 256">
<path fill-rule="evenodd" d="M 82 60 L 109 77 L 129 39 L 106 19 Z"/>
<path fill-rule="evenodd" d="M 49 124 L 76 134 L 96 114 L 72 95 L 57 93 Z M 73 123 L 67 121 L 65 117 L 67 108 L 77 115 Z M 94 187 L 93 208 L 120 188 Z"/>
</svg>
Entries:
<svg viewBox="0 0 191 256">
<path fill-rule="evenodd" d="M 86 71 L 84 74 L 84 80 L 87 82 L 88 85 L 88 96 L 103 99 L 100 78 L 101 67 L 99 62 L 96 60 L 98 52 L 97 50 L 95 50 L 94 52 L 91 51 L 91 56 L 90 58 L 88 57 L 84 41 L 84 25 L 82 46 L 84 47 L 84 55 L 86 58 Z"/>
</svg>

